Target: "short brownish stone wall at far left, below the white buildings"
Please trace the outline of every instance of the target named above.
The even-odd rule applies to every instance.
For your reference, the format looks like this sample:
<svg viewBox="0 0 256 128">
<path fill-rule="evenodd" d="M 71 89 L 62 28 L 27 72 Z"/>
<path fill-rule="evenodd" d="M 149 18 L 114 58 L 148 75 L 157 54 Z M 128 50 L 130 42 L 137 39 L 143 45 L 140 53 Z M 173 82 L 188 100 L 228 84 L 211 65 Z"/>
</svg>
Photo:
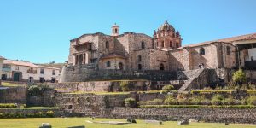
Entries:
<svg viewBox="0 0 256 128">
<path fill-rule="evenodd" d="M 7 88 L 0 90 L 0 103 L 26 104 L 26 87 Z"/>
</svg>

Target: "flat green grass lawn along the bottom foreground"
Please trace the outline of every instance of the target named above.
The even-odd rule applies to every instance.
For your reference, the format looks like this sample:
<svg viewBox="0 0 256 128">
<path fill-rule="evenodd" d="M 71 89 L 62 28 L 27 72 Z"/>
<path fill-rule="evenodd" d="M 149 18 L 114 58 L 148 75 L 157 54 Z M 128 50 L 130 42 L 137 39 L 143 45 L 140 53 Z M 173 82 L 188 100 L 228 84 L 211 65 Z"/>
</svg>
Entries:
<svg viewBox="0 0 256 128">
<path fill-rule="evenodd" d="M 41 123 L 49 123 L 54 128 L 64 128 L 68 126 L 85 125 L 86 128 L 253 128 L 256 125 L 230 124 L 224 125 L 216 123 L 190 123 L 189 125 L 177 125 L 177 122 L 167 121 L 163 125 L 146 124 L 143 120 L 137 120 L 137 124 L 129 125 L 108 125 L 90 124 L 85 120 L 90 118 L 34 118 L 34 119 L 0 119 L 1 128 L 38 128 Z M 94 121 L 125 121 L 125 119 L 95 119 Z"/>
</svg>

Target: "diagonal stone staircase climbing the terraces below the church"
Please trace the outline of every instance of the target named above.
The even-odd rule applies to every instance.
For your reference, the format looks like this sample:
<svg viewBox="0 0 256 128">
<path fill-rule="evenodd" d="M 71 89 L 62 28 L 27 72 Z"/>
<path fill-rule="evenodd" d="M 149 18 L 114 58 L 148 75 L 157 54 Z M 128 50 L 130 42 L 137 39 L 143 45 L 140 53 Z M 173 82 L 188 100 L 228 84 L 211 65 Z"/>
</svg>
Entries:
<svg viewBox="0 0 256 128">
<path fill-rule="evenodd" d="M 178 92 L 184 92 L 186 91 L 191 84 L 198 79 L 198 77 L 205 71 L 206 69 L 196 69 L 196 70 L 189 70 L 184 71 L 183 73 L 187 76 L 188 80 L 183 84 L 183 86 L 178 90 Z"/>
</svg>

